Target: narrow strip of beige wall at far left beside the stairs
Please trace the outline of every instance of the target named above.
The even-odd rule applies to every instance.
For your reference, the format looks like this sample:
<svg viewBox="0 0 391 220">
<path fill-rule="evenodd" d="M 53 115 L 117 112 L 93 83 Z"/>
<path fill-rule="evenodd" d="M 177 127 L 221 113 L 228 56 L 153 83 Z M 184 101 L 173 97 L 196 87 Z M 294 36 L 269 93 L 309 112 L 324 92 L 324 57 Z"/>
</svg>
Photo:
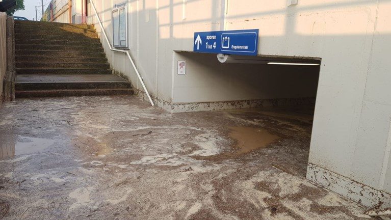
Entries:
<svg viewBox="0 0 391 220">
<path fill-rule="evenodd" d="M 0 12 L 0 103 L 3 101 L 3 79 L 7 71 L 7 14 Z"/>
</svg>

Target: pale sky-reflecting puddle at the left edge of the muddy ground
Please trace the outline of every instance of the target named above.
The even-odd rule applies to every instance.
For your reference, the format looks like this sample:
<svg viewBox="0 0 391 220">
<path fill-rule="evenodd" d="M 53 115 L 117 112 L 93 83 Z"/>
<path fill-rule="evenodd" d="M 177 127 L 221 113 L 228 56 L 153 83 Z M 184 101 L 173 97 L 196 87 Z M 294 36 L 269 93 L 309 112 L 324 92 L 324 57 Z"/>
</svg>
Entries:
<svg viewBox="0 0 391 220">
<path fill-rule="evenodd" d="M 38 137 L 17 136 L 14 140 L 0 140 L 0 160 L 23 154 L 33 154 L 48 148 L 55 143 L 54 140 Z"/>
</svg>

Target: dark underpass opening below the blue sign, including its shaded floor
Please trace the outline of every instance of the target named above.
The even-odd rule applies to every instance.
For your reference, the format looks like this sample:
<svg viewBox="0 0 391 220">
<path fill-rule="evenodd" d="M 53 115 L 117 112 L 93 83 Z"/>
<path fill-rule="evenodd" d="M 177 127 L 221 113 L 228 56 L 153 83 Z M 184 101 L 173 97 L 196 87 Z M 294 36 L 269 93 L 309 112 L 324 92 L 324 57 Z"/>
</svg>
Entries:
<svg viewBox="0 0 391 220">
<path fill-rule="evenodd" d="M 276 148 L 273 157 L 291 157 L 290 166 L 305 176 L 321 59 L 187 51 L 174 57 L 186 71 L 174 70 L 173 112 L 229 109 L 224 114 L 240 124 L 229 133 L 239 154 Z"/>
</svg>

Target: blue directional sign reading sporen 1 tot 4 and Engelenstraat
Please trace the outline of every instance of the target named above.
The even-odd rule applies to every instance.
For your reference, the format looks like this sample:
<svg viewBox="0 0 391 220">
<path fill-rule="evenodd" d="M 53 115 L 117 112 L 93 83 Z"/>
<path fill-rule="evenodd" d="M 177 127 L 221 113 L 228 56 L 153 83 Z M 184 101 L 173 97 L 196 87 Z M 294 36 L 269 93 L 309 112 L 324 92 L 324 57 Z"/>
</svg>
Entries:
<svg viewBox="0 0 391 220">
<path fill-rule="evenodd" d="M 257 56 L 258 29 L 194 33 L 194 52 Z"/>
</svg>

